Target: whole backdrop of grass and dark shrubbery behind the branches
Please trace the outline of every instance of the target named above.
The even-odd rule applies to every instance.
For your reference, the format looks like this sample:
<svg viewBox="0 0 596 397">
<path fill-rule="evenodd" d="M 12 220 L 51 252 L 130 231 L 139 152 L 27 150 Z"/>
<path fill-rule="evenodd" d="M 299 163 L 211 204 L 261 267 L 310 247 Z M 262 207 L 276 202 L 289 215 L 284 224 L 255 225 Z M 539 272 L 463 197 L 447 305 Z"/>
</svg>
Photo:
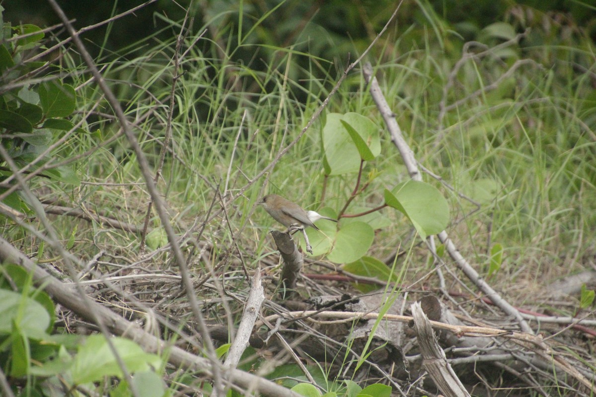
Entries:
<svg viewBox="0 0 596 397">
<path fill-rule="evenodd" d="M 79 29 L 133 5 L 63 3 Z M 548 282 L 591 264 L 596 251 L 594 8 L 582 2 L 554 1 L 452 3 L 404 2 L 366 60 L 373 63 L 415 157 L 448 184 L 424 177 L 448 199 L 450 235 L 493 285 L 516 291 L 517 304 L 532 304 Z M 209 273 L 215 264 L 222 274 L 237 276 L 242 273 L 231 258 L 242 256 L 252 269 L 272 251 L 266 233 L 272 221 L 264 211 L 254 209 L 265 179 L 252 178 L 271 164 L 281 145 L 298 136 L 346 65 L 384 26 L 396 2 L 179 4 L 182 7 L 154 2 L 82 37 L 157 169 L 169 123 L 176 36 L 183 7 L 190 7 L 191 28 L 185 31 L 181 46 L 182 52 L 188 52 L 181 58 L 181 75 L 173 92 L 171 149 L 158 187 L 179 235 L 207 218 L 216 190 L 227 189 L 231 195 L 243 192 L 226 216 L 206 223 L 201 236 L 210 244 L 210 264 L 192 263 L 198 275 Z M 12 26 L 57 22 L 43 1 L 7 2 L 3 7 L 4 21 Z M 39 202 L 141 226 L 148 195 L 138 161 L 119 135 L 119 123 L 77 51 L 69 44 L 60 54 L 46 54 L 41 61 L 48 64 L 41 70 L 35 69 L 38 64 L 19 63 L 67 36 L 53 30 L 46 33 L 41 46 L 26 43 L 20 48 L 8 37 L 3 45 L 11 49 L 18 79 L 3 74 L 6 106 L 2 110 L 22 108 L 20 89 L 25 89 L 21 95 L 41 93 L 47 98 L 44 92 L 52 92 L 52 87 L 36 79 L 59 77 L 76 93 L 76 107 L 54 115 L 46 99 L 40 100 L 42 115 L 30 119 L 30 134 L 35 136 L 14 136 L 10 133 L 14 124 L 2 126 L 2 145 L 14 150 L 10 153 L 15 160 L 18 155 L 39 154 L 39 148 L 51 148 L 44 162 L 33 167 L 41 175 L 29 182 Z M 11 89 L 14 82 L 22 86 Z M 392 190 L 409 179 L 367 89 L 359 70 L 347 76 L 322 117 L 272 170 L 268 192 L 283 193 L 308 210 L 325 206 L 337 214 L 343 207 L 355 175 L 325 176 L 321 133 L 330 113 L 357 112 L 373 120 L 380 131 L 380 155 L 364 168 L 368 187 L 350 204 L 348 213 L 383 204 L 384 189 Z M 63 91 L 54 90 L 57 96 Z M 27 112 L 32 114 L 32 108 Z M 54 116 L 58 121 L 44 124 Z M 64 121 L 70 124 L 60 124 Z M 77 123 L 80 128 L 71 130 Z M 61 168 L 41 172 L 44 164 L 55 163 Z M 6 161 L 0 167 L 2 179 L 11 176 Z M 26 214 L 27 226 L 44 229 L 31 211 L 36 203 L 20 193 L 3 203 Z M 383 211 L 367 215 L 367 223 L 375 229 L 367 257 L 346 268 L 365 268 L 363 274 L 392 282 L 401 280 L 397 273 L 408 280 L 419 279 L 430 270 L 432 260 L 415 248 L 418 240 L 412 239 L 407 218 L 397 211 Z M 107 227 L 97 218 L 90 222 L 50 218 L 59 241 L 80 263 L 98 252 L 107 253 L 110 260 L 94 268 L 95 275 L 110 274 L 141 259 L 139 267 L 144 270 L 176 273 L 168 254 L 160 251 L 167 240 L 153 211 L 148 252 L 143 251 L 141 233 Z M 39 233 L 30 233 L 10 217 L 1 219 L 5 238 L 30 257 L 57 262 L 60 267 L 58 250 L 44 245 Z M 387 260 L 391 271 L 380 269 L 385 258 L 401 250 L 408 252 L 408 258 L 399 262 L 399 272 L 393 271 L 392 260 Z M 589 304 L 583 302 L 582 308 Z M 217 317 L 218 312 L 214 309 L 211 314 Z M 11 337 L 17 340 L 15 335 Z"/>
</svg>

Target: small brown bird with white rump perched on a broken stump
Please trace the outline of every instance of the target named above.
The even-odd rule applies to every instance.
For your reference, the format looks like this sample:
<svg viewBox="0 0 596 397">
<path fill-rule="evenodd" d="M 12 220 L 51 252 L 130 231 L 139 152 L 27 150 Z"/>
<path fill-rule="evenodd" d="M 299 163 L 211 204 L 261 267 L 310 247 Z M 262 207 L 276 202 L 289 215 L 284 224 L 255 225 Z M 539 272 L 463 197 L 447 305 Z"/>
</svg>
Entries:
<svg viewBox="0 0 596 397">
<path fill-rule="evenodd" d="M 288 228 L 288 232 L 292 230 L 305 229 L 305 227 L 313 227 L 320 230 L 315 225 L 315 221 L 319 219 L 327 219 L 337 222 L 336 219 L 324 217 L 316 211 L 303 210 L 300 205 L 283 198 L 280 195 L 266 195 L 259 202 L 265 208 L 265 211 L 271 215 L 279 223 Z"/>
</svg>

